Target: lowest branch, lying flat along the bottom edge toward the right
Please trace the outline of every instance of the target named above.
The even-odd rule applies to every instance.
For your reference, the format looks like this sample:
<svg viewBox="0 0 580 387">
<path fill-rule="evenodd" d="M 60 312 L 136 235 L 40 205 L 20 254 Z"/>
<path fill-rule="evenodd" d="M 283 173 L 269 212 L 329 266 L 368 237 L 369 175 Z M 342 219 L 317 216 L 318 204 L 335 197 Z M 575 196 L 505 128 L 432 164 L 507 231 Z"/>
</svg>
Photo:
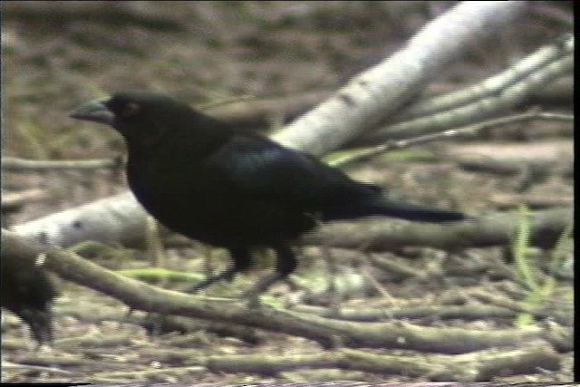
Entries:
<svg viewBox="0 0 580 387">
<path fill-rule="evenodd" d="M 263 354 L 211 356 L 207 363 L 213 372 L 253 372 L 275 375 L 279 372 L 309 368 L 340 368 L 378 374 L 396 374 L 420 377 L 429 381 L 489 381 L 498 374 L 533 373 L 537 369 L 560 368 L 558 355 L 536 345 L 508 352 L 489 351 L 457 356 L 402 353 L 365 353 L 351 349 L 317 354 L 284 355 Z"/>
</svg>

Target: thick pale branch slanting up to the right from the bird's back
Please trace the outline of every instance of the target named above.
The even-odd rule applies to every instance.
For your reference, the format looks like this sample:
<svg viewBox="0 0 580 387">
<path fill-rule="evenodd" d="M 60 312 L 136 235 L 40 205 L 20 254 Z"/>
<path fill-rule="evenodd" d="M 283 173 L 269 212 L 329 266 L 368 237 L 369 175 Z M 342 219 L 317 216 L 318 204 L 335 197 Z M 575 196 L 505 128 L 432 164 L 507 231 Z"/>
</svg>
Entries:
<svg viewBox="0 0 580 387">
<path fill-rule="evenodd" d="M 427 24 L 387 61 L 354 78 L 275 140 L 322 155 L 386 119 L 465 52 L 509 26 L 525 2 L 463 2 Z"/>
</svg>

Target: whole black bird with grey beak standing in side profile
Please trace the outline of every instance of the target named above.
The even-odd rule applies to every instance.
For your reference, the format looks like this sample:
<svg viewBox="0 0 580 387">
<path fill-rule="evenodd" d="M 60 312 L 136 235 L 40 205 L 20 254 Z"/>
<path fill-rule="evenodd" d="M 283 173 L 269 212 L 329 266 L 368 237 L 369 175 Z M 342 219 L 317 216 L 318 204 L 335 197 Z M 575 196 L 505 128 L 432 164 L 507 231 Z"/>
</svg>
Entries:
<svg viewBox="0 0 580 387">
<path fill-rule="evenodd" d="M 233 266 L 193 286 L 231 280 L 250 265 L 252 247 L 271 247 L 275 273 L 256 296 L 295 270 L 291 242 L 319 222 L 371 216 L 422 222 L 467 219 L 437 208 L 395 203 L 378 186 L 258 134 L 150 92 L 119 92 L 88 102 L 71 117 L 110 125 L 127 142 L 132 192 L 166 227 L 229 250 Z"/>
</svg>

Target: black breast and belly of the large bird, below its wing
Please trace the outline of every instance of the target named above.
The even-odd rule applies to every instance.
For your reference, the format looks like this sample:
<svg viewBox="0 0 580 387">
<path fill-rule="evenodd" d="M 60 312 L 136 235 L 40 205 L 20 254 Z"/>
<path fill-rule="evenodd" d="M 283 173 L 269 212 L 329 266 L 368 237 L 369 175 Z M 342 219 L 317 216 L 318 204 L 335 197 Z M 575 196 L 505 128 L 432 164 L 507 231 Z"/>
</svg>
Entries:
<svg viewBox="0 0 580 387">
<path fill-rule="evenodd" d="M 314 227 L 299 208 L 240 194 L 215 177 L 128 173 L 128 179 L 140 204 L 160 223 L 215 246 L 268 245 Z"/>
</svg>

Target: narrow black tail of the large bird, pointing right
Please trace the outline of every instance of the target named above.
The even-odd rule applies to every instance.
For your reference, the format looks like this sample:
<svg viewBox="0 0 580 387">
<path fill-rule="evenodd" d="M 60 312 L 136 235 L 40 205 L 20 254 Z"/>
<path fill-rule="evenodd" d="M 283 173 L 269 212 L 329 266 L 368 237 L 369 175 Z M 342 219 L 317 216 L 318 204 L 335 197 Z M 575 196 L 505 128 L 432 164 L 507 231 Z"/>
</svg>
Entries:
<svg viewBox="0 0 580 387">
<path fill-rule="evenodd" d="M 391 217 L 430 223 L 473 220 L 472 217 L 457 211 L 395 202 L 384 198 L 368 200 L 358 206 L 351 204 L 343 208 L 333 208 L 333 211 L 328 211 L 323 216 L 326 221 L 367 217 Z"/>
</svg>

